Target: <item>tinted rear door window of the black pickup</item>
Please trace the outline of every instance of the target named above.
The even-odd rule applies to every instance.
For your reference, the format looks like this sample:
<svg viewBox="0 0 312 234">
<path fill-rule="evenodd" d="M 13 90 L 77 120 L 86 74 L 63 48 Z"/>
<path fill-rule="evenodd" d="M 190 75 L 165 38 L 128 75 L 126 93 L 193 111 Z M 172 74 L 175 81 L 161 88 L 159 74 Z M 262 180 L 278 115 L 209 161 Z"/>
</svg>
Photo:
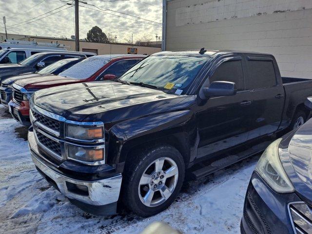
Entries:
<svg viewBox="0 0 312 234">
<path fill-rule="evenodd" d="M 275 70 L 271 60 L 248 60 L 248 89 L 263 89 L 276 85 Z"/>
</svg>

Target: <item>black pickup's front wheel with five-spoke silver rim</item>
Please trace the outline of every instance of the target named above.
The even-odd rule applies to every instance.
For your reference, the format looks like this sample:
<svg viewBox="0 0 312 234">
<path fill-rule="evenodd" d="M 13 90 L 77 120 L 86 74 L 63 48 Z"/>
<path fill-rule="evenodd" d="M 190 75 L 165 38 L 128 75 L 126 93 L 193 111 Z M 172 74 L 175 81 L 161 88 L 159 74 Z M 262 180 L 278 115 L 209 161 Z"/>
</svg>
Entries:
<svg viewBox="0 0 312 234">
<path fill-rule="evenodd" d="M 179 151 L 161 144 L 137 150 L 128 157 L 122 184 L 124 205 L 143 217 L 168 208 L 180 192 L 185 176 L 185 164 Z M 156 169 L 156 163 L 161 165 L 162 160 L 160 171 L 160 166 Z"/>
</svg>

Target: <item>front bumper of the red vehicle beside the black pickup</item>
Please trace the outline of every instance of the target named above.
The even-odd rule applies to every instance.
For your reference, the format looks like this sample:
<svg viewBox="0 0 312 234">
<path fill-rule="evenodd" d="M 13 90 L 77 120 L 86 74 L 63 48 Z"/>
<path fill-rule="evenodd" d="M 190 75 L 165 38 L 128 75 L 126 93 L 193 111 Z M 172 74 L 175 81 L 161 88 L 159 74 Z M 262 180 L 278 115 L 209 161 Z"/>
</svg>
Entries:
<svg viewBox="0 0 312 234">
<path fill-rule="evenodd" d="M 31 125 L 29 119 L 29 101 L 22 101 L 21 105 L 19 105 L 13 100 L 10 100 L 8 107 L 9 112 L 16 121 L 25 126 Z"/>
</svg>

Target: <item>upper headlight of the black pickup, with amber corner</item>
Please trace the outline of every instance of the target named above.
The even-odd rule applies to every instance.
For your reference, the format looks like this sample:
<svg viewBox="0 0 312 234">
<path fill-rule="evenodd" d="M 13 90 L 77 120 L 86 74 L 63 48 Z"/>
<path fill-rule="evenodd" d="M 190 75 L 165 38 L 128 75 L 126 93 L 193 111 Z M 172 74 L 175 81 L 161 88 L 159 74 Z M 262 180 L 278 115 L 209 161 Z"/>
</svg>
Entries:
<svg viewBox="0 0 312 234">
<path fill-rule="evenodd" d="M 102 139 L 103 128 L 102 127 L 81 127 L 75 125 L 67 125 L 66 137 L 71 137 L 74 139 L 81 140 L 93 140 L 93 139 Z"/>
</svg>

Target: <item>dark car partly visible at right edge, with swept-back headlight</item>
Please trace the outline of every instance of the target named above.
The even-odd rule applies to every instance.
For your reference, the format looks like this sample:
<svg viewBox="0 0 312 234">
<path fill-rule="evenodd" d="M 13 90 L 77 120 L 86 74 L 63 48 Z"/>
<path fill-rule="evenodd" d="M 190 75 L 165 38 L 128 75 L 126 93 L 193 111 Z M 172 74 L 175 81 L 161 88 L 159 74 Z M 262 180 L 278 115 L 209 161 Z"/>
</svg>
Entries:
<svg viewBox="0 0 312 234">
<path fill-rule="evenodd" d="M 312 233 L 312 119 L 262 154 L 247 189 L 242 234 Z"/>
</svg>

